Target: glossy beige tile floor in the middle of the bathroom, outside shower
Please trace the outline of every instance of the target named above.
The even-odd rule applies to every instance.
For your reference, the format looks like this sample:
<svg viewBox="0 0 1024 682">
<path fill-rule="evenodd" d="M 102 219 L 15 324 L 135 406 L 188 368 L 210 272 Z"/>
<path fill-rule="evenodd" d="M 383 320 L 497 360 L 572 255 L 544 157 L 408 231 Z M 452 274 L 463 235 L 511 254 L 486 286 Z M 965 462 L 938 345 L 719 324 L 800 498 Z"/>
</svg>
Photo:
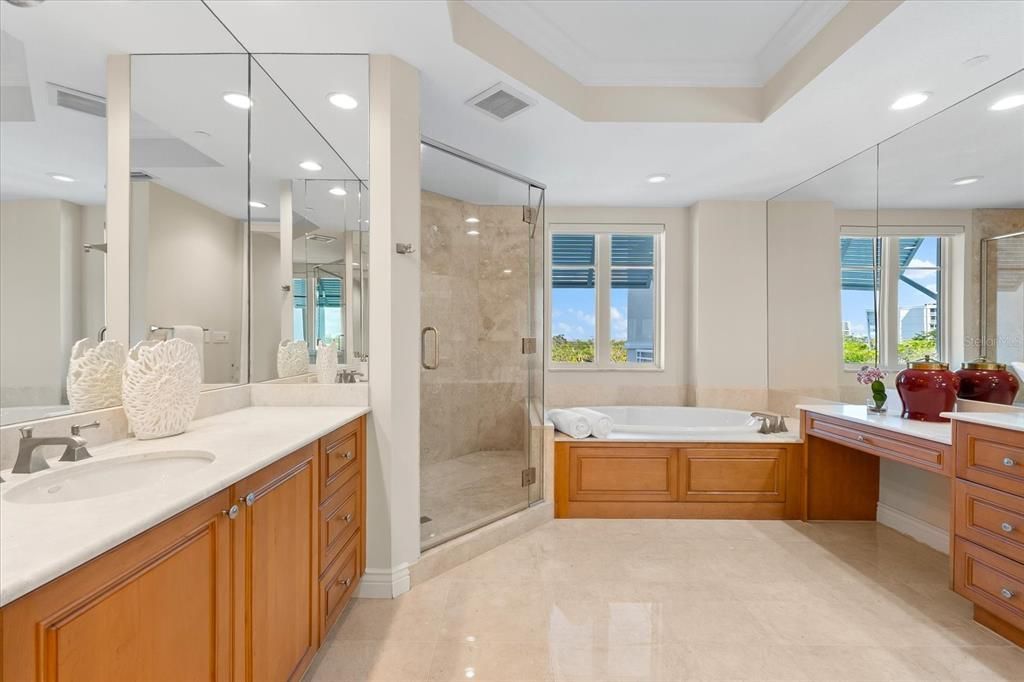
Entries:
<svg viewBox="0 0 1024 682">
<path fill-rule="evenodd" d="M 307 679 L 1024 680 L 946 561 L 874 523 L 556 520 L 353 602 Z"/>
</svg>

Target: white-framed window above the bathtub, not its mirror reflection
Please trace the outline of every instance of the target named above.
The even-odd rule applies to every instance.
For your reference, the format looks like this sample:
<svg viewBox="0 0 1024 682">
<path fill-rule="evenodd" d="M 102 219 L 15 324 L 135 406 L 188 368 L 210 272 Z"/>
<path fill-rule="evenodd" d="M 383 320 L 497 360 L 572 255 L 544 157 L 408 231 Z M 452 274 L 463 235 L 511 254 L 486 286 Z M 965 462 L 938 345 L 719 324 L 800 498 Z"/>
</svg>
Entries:
<svg viewBox="0 0 1024 682">
<path fill-rule="evenodd" d="M 660 367 L 660 225 L 551 233 L 551 366 Z"/>
</svg>

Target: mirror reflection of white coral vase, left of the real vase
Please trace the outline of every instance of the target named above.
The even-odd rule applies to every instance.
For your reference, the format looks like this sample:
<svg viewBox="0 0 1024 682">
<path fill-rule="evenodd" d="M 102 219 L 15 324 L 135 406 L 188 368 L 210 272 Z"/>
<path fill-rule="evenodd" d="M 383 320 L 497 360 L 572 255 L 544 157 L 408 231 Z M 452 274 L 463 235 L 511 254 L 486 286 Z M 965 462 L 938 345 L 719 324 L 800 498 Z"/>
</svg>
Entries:
<svg viewBox="0 0 1024 682">
<path fill-rule="evenodd" d="M 80 339 L 68 363 L 68 401 L 75 412 L 121 404 L 125 347 L 120 341 Z"/>
</svg>

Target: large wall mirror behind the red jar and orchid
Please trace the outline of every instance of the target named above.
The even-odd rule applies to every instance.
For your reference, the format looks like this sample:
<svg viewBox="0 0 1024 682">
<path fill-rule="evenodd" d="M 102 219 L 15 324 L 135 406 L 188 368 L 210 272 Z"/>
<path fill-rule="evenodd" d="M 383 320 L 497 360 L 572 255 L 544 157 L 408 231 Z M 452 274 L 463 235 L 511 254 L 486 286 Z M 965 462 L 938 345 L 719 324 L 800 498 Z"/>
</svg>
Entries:
<svg viewBox="0 0 1024 682">
<path fill-rule="evenodd" d="M 1024 72 L 768 202 L 775 410 L 925 356 L 1024 379 L 1022 95 Z"/>
</svg>

